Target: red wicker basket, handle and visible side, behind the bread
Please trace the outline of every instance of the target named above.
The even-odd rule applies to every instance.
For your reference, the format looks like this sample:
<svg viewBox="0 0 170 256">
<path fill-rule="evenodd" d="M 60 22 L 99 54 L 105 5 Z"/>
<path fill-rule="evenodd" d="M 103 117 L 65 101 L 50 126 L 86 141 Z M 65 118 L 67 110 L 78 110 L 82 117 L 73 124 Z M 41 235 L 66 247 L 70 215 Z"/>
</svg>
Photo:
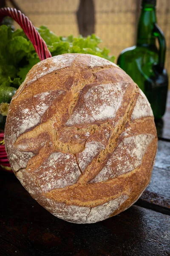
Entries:
<svg viewBox="0 0 170 256">
<path fill-rule="evenodd" d="M 40 61 L 50 58 L 51 53 L 49 52 L 45 41 L 41 38 L 31 21 L 23 13 L 13 8 L 1 8 L 0 9 L 0 22 L 5 16 L 13 18 L 26 33 L 26 36 L 33 44 Z M 12 172 L 11 166 L 8 162 L 8 157 L 4 145 L 4 133 L 0 133 L 0 169 L 8 172 Z"/>
</svg>

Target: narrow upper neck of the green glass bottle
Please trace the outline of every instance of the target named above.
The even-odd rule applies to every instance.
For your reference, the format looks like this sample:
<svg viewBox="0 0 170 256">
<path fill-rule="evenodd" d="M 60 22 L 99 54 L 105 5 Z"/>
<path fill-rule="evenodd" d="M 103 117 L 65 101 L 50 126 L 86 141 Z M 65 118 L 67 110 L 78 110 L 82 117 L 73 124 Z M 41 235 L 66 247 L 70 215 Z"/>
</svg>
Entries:
<svg viewBox="0 0 170 256">
<path fill-rule="evenodd" d="M 150 46 L 156 44 L 156 37 L 153 35 L 153 26 L 156 23 L 156 6 L 143 3 L 138 23 L 137 45 Z"/>
</svg>

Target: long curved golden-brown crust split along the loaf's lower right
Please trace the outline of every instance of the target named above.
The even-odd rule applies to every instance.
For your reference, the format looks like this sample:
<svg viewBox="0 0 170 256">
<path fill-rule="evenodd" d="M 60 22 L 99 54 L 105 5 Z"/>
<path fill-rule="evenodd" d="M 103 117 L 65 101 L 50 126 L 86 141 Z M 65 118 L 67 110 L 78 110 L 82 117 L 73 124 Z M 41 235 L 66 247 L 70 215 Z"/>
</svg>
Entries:
<svg viewBox="0 0 170 256">
<path fill-rule="evenodd" d="M 128 208 L 150 181 L 150 169 L 153 166 L 153 152 L 156 154 L 156 145 L 157 140 L 155 139 L 148 146 L 142 159 L 142 165 L 131 172 L 105 182 L 76 183 L 62 189 L 52 190 L 46 196 L 66 204 L 94 207 L 117 198 L 122 192 L 125 192 L 129 195 L 128 200 L 124 203 L 125 208 Z"/>
</svg>

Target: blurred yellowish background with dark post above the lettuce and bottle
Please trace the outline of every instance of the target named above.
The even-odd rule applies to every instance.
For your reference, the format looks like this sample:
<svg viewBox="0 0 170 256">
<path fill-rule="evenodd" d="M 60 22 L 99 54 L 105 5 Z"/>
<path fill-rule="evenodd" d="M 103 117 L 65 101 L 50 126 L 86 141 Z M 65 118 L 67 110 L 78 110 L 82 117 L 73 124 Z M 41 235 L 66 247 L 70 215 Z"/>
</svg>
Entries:
<svg viewBox="0 0 170 256">
<path fill-rule="evenodd" d="M 34 26 L 45 25 L 61 36 L 95 33 L 118 57 L 136 42 L 141 0 L 4 0 L 29 17 Z M 166 68 L 170 74 L 170 0 L 157 0 L 157 22 L 167 42 Z M 17 28 L 18 25 L 15 24 Z"/>
</svg>

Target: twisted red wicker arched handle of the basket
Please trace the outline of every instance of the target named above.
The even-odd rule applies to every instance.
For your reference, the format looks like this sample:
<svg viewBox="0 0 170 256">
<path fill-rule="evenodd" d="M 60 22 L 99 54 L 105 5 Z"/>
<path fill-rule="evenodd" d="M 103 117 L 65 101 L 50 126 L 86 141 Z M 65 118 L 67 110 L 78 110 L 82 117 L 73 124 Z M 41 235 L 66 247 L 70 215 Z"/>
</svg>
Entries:
<svg viewBox="0 0 170 256">
<path fill-rule="evenodd" d="M 40 60 L 51 57 L 45 41 L 41 38 L 31 21 L 22 12 L 13 8 L 0 8 L 0 22 L 5 16 L 13 18 L 23 29 L 28 39 L 33 44 Z"/>
</svg>

